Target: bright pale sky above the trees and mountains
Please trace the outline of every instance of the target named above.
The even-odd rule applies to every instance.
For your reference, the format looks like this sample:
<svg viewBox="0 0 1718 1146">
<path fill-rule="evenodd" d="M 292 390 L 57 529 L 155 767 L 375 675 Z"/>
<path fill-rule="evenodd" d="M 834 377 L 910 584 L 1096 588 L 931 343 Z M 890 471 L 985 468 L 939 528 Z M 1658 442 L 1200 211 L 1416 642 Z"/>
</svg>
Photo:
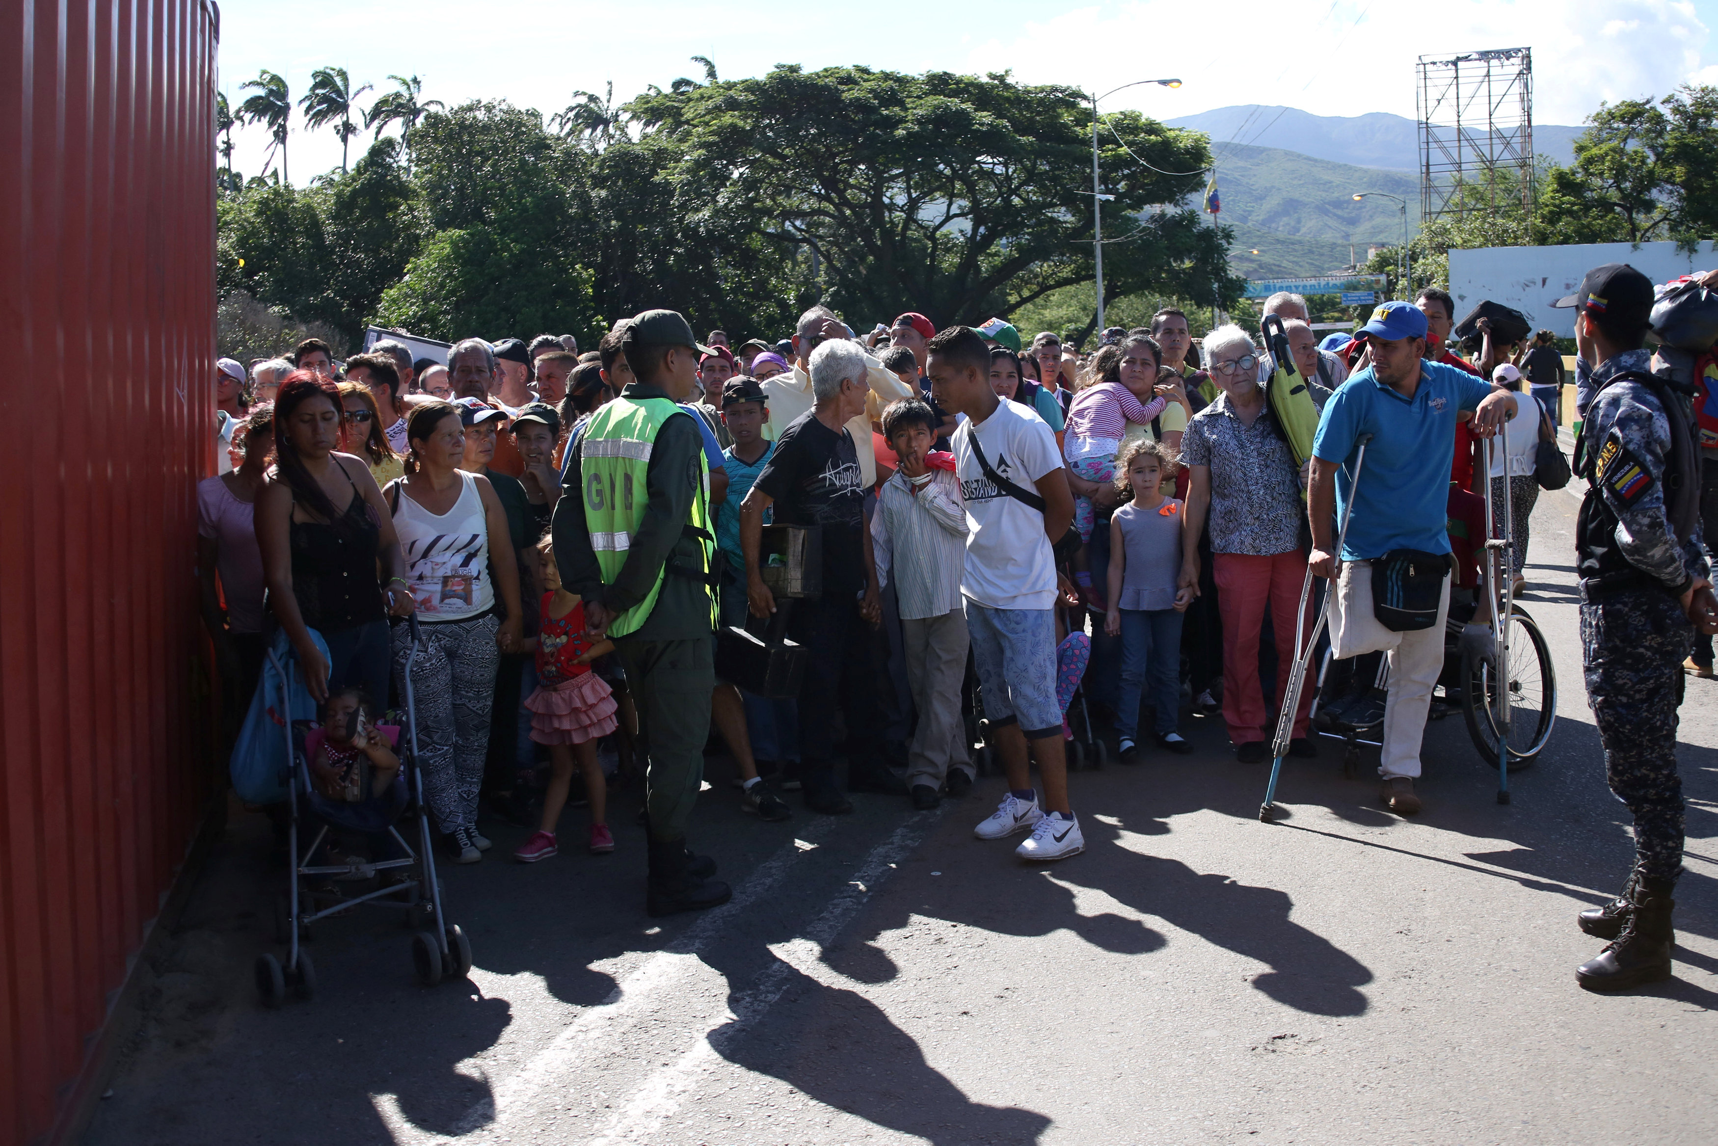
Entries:
<svg viewBox="0 0 1718 1146">
<path fill-rule="evenodd" d="M 509 100 L 548 115 L 574 89 L 601 93 L 613 81 L 625 98 L 696 77 L 689 57 L 708 55 L 723 79 L 761 76 L 775 64 L 1012 70 L 1026 82 L 1098 91 L 1177 76 L 1185 81 L 1179 91 L 1134 88 L 1105 103 L 1158 119 L 1235 103 L 1412 117 L 1419 55 L 1531 46 L 1534 120 L 1579 124 L 1603 100 L 1663 96 L 1682 81 L 1718 84 L 1711 29 L 1718 0 L 833 0 L 816 9 L 783 0 L 225 0 L 220 86 L 237 105 L 239 84 L 266 67 L 287 77 L 295 100 L 313 69 L 333 64 L 354 84 L 381 89 L 388 74 L 416 74 L 424 98 L 450 107 Z M 333 132 L 306 134 L 299 115 L 292 124 L 295 184 L 338 167 Z M 263 129 L 237 131 L 235 144 L 235 167 L 256 174 L 268 146 Z"/>
</svg>

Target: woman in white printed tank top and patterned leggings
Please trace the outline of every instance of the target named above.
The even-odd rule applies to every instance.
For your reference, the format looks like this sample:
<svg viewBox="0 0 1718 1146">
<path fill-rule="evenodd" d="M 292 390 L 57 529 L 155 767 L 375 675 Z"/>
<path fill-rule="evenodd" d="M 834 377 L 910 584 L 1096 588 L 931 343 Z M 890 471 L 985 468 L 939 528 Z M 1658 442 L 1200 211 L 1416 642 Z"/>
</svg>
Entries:
<svg viewBox="0 0 1718 1146">
<path fill-rule="evenodd" d="M 414 407 L 405 440 L 405 476 L 388 486 L 387 502 L 423 632 L 412 667 L 419 765 L 430 811 L 459 863 L 469 864 L 490 847 L 478 835 L 478 787 L 495 670 L 500 653 L 519 641 L 519 565 L 490 481 L 459 469 L 460 411 L 447 402 Z M 497 617 L 497 596 L 507 620 Z M 409 651 L 411 632 L 400 625 L 395 682 L 404 682 Z"/>
</svg>

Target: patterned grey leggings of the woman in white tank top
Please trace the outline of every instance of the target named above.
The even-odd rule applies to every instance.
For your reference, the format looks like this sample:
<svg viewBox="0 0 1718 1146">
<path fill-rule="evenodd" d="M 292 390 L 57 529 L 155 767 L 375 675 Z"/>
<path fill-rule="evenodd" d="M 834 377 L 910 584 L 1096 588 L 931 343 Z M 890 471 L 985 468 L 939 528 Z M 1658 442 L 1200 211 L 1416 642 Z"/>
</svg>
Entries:
<svg viewBox="0 0 1718 1146">
<path fill-rule="evenodd" d="M 417 766 L 424 797 L 442 832 L 478 823 L 478 789 L 490 751 L 490 704 L 500 649 L 490 613 L 476 620 L 419 625 L 423 643 L 412 667 L 412 708 L 417 716 Z M 405 698 L 405 658 L 411 627 L 393 629 L 393 680 Z"/>
</svg>

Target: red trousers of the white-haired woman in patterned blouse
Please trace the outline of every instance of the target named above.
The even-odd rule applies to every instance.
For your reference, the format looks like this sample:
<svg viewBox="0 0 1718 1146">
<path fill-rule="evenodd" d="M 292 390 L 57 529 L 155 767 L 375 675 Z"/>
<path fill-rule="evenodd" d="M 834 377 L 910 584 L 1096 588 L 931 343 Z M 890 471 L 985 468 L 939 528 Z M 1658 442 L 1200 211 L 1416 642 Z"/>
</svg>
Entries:
<svg viewBox="0 0 1718 1146">
<path fill-rule="evenodd" d="M 1288 687 L 1288 674 L 1294 672 L 1294 612 L 1306 584 L 1306 553 L 1215 553 L 1211 576 L 1216 581 L 1216 608 L 1223 617 L 1223 723 L 1235 744 L 1266 741 L 1276 732 L 1282 698 Z M 1271 708 L 1264 706 L 1259 686 L 1259 631 L 1264 627 L 1266 603 L 1276 636 L 1276 704 Z M 1307 634 L 1311 629 L 1313 601 L 1307 600 Z M 1313 675 L 1311 665 L 1307 675 Z M 1302 687 L 1292 735 L 1306 735 L 1311 710 L 1313 689 Z"/>
</svg>

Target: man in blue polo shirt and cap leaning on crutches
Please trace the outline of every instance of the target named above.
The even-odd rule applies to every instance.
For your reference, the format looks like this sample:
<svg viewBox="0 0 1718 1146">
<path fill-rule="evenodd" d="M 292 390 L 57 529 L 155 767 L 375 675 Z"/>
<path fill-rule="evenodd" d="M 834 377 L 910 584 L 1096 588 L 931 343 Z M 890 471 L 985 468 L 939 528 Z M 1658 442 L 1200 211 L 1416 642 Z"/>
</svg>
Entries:
<svg viewBox="0 0 1718 1146">
<path fill-rule="evenodd" d="M 1371 364 L 1349 378 L 1325 404 L 1313 440 L 1307 512 L 1319 577 L 1337 577 L 1347 608 L 1373 608 L 1371 562 L 1392 550 L 1448 553 L 1447 503 L 1457 423 L 1472 423 L 1490 438 L 1514 416 L 1515 395 L 1491 390 L 1481 378 L 1423 361 L 1426 316 L 1407 302 L 1385 302 L 1361 328 Z M 1359 486 L 1350 474 L 1361 436 L 1371 435 Z M 1331 521 L 1354 502 L 1342 553 L 1331 553 Z M 1438 624 L 1402 632 L 1390 649 L 1390 699 L 1380 775 L 1390 811 L 1419 811 L 1419 742 L 1426 730 L 1431 687 L 1443 670 L 1443 622 L 1450 582 L 1443 581 Z"/>
</svg>

